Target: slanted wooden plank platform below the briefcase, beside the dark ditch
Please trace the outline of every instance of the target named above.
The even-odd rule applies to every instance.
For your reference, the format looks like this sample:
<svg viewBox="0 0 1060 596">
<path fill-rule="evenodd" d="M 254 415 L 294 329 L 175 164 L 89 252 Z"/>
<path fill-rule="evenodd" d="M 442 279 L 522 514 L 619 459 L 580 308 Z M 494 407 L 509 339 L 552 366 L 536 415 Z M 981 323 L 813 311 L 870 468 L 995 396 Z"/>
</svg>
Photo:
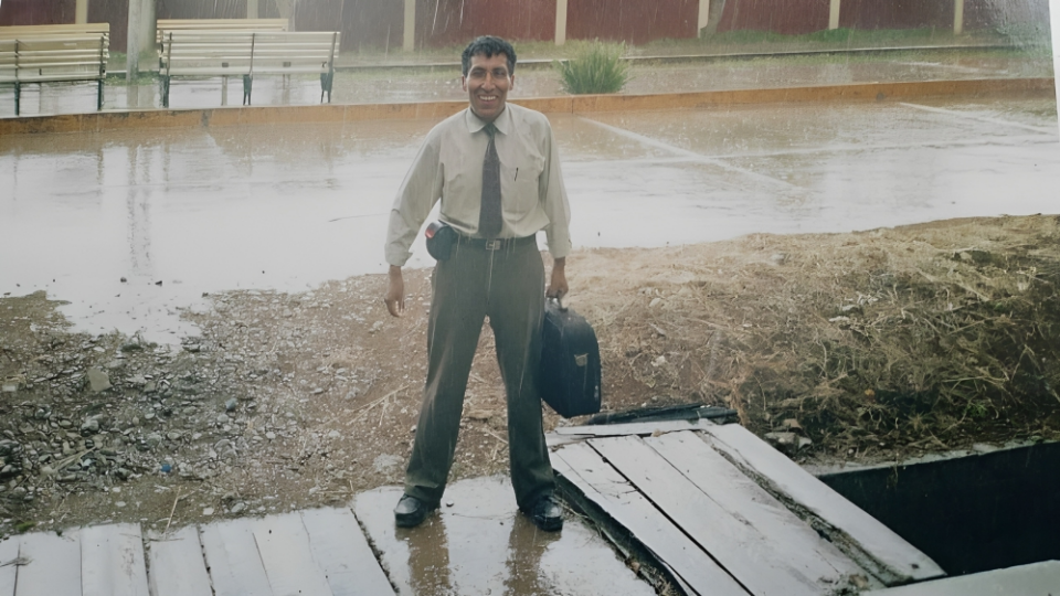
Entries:
<svg viewBox="0 0 1060 596">
<path fill-rule="evenodd" d="M 549 440 L 568 493 L 628 531 L 688 594 L 847 594 L 944 575 L 741 426 L 568 427 Z"/>
</svg>

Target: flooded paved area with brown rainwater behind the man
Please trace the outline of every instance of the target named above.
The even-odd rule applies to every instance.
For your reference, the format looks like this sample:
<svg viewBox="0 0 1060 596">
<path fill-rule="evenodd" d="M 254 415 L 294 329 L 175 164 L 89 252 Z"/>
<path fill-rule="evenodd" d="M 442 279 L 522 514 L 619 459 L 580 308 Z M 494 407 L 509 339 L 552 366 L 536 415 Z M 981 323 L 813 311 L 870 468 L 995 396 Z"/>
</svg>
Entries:
<svg viewBox="0 0 1060 596">
<path fill-rule="evenodd" d="M 550 118 L 576 247 L 1057 209 L 1050 98 Z M 386 214 L 434 124 L 2 138 L 0 294 L 45 290 L 78 330 L 174 343 L 204 294 L 383 272 Z"/>
</svg>

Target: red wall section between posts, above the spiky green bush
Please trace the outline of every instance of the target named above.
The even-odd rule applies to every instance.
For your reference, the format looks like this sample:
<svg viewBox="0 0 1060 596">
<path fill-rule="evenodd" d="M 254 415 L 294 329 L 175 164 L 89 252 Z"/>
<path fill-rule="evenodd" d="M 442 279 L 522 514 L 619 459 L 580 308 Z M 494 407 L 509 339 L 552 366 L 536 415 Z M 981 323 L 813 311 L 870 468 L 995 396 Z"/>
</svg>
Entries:
<svg viewBox="0 0 1060 596">
<path fill-rule="evenodd" d="M 570 0 L 566 39 L 624 41 L 695 38 L 699 0 Z M 554 25 L 553 25 L 554 26 Z M 554 36 L 554 31 L 548 39 Z"/>
</svg>

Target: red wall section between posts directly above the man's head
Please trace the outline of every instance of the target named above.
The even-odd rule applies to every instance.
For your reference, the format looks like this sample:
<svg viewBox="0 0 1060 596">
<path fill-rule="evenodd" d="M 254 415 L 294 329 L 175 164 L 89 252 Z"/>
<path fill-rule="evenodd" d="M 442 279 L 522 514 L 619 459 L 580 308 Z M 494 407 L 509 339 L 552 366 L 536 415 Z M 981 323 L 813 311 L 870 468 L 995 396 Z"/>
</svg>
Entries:
<svg viewBox="0 0 1060 596">
<path fill-rule="evenodd" d="M 463 46 L 478 35 L 555 38 L 555 0 L 417 0 L 416 44 Z"/>
</svg>

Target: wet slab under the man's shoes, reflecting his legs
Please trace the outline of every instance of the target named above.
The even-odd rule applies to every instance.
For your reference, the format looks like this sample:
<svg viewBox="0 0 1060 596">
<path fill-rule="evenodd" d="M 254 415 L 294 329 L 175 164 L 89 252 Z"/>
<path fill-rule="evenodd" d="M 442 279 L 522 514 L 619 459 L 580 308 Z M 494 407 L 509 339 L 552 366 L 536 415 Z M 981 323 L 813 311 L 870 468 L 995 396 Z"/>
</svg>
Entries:
<svg viewBox="0 0 1060 596">
<path fill-rule="evenodd" d="M 413 529 L 394 526 L 400 497 L 400 488 L 386 487 L 354 501 L 354 513 L 399 594 L 655 594 L 577 518 L 569 515 L 561 532 L 539 531 L 516 510 L 507 478 L 452 485 L 442 509 Z"/>
</svg>

